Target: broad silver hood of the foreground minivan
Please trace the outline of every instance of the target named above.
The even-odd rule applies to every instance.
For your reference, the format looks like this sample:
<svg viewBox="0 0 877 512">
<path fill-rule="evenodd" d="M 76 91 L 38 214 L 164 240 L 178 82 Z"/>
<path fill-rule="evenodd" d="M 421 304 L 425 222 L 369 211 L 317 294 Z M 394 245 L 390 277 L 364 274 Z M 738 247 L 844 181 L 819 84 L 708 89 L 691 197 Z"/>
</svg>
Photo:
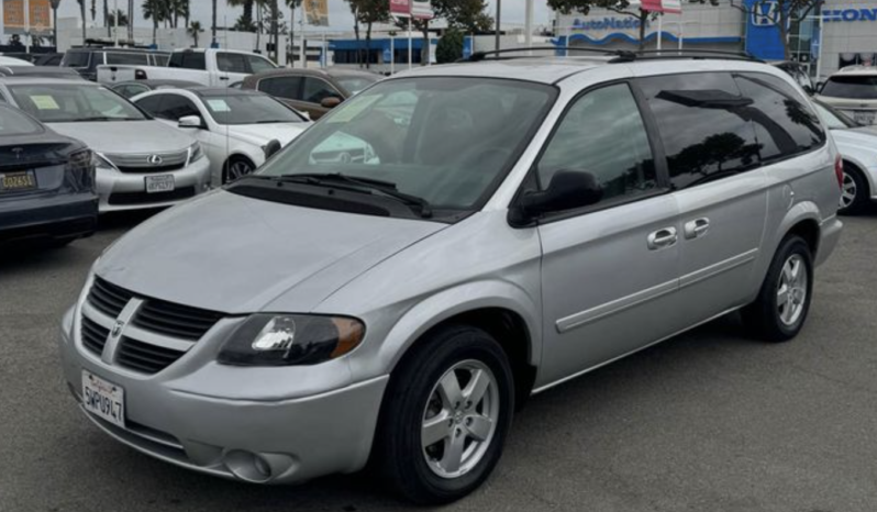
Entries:
<svg viewBox="0 0 877 512">
<path fill-rule="evenodd" d="M 303 313 L 444 227 L 219 190 L 141 224 L 107 251 L 95 271 L 135 293 L 196 308 Z"/>
</svg>

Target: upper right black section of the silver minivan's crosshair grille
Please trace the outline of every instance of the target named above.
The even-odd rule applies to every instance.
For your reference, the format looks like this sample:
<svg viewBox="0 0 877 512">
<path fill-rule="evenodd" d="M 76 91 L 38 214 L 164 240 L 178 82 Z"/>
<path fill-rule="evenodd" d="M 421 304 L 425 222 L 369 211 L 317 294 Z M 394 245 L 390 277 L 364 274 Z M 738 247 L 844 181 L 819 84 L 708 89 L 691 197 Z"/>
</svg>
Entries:
<svg viewBox="0 0 877 512">
<path fill-rule="evenodd" d="M 213 311 L 152 299 L 137 310 L 134 325 L 168 336 L 197 341 L 221 318 L 220 313 Z"/>
</svg>

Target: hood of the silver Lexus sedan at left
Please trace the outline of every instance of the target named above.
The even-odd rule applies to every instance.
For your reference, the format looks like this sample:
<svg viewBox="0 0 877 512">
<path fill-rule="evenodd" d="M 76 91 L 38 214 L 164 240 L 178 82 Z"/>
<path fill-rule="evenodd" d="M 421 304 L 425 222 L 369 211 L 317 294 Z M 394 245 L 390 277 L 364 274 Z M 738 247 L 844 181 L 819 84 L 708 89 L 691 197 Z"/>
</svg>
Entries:
<svg viewBox="0 0 877 512">
<path fill-rule="evenodd" d="M 195 144 L 191 135 L 158 121 L 48 123 L 52 130 L 86 143 L 98 153 L 175 153 Z"/>
</svg>

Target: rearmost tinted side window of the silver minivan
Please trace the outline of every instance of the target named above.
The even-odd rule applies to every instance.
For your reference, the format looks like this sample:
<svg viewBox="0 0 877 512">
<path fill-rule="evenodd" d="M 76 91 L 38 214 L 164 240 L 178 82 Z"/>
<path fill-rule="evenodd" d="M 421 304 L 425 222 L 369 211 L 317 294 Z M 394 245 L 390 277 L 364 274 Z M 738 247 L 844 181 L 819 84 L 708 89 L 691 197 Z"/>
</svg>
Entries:
<svg viewBox="0 0 877 512">
<path fill-rule="evenodd" d="M 755 127 L 762 160 L 804 153 L 825 141 L 819 118 L 791 86 L 770 75 L 744 73 L 735 77 L 740 90 L 753 101 L 741 112 Z"/>
</svg>

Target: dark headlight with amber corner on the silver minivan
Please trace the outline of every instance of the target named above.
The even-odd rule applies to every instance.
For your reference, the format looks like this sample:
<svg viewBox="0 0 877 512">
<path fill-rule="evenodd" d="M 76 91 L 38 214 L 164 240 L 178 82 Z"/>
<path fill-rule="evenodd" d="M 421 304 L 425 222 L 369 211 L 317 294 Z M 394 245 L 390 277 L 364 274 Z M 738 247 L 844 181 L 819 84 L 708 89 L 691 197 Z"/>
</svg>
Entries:
<svg viewBox="0 0 877 512">
<path fill-rule="evenodd" d="M 365 325 L 346 316 L 254 314 L 222 346 L 218 360 L 237 366 L 315 365 L 349 354 Z"/>
</svg>

